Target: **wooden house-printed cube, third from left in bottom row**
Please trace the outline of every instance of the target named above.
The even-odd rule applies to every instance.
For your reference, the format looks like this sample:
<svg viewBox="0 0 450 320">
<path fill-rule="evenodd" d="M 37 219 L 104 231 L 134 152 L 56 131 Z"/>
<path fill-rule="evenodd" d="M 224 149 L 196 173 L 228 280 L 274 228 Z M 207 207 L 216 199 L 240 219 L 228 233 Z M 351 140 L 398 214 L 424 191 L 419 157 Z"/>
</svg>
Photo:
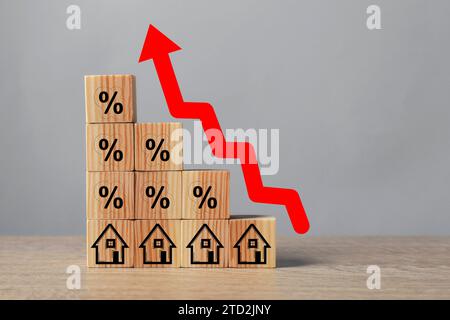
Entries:
<svg viewBox="0 0 450 320">
<path fill-rule="evenodd" d="M 228 220 L 181 220 L 181 266 L 226 268 Z"/>
</svg>

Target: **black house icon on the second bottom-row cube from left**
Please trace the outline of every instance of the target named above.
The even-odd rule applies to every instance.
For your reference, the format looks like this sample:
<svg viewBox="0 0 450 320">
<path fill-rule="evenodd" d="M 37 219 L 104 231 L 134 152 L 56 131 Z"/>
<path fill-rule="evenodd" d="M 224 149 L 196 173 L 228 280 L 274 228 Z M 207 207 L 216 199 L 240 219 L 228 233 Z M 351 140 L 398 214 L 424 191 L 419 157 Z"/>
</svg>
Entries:
<svg viewBox="0 0 450 320">
<path fill-rule="evenodd" d="M 158 223 L 139 245 L 144 252 L 144 264 L 172 264 L 173 241 Z"/>
</svg>

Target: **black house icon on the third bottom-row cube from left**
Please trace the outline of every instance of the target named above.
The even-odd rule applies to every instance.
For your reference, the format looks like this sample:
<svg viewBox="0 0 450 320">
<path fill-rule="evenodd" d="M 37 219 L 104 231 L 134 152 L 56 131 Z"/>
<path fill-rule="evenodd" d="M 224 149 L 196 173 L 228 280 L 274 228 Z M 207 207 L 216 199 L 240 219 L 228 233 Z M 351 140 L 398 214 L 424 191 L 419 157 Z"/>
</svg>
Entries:
<svg viewBox="0 0 450 320">
<path fill-rule="evenodd" d="M 223 245 L 207 224 L 200 227 L 186 248 L 191 249 L 191 264 L 220 263 L 220 249 Z"/>
</svg>

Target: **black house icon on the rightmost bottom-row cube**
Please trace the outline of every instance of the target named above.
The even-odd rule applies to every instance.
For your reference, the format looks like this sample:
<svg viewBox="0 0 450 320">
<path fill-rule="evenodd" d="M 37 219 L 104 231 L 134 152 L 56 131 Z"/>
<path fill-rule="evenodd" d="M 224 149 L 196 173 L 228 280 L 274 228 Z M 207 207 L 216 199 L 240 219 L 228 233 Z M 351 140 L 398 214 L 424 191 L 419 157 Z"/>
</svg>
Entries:
<svg viewBox="0 0 450 320">
<path fill-rule="evenodd" d="M 238 264 L 266 264 L 269 243 L 252 223 L 233 248 L 238 251 Z"/>
</svg>

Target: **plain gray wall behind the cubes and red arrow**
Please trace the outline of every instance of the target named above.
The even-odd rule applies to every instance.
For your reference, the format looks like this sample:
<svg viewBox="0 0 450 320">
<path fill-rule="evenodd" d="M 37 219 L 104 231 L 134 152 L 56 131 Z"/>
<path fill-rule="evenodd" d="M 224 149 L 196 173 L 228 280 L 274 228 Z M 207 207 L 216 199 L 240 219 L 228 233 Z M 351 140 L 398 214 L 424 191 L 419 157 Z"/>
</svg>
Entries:
<svg viewBox="0 0 450 320">
<path fill-rule="evenodd" d="M 149 23 L 183 48 L 186 100 L 211 102 L 223 128 L 280 128 L 264 181 L 301 192 L 309 234 L 449 234 L 449 1 L 0 3 L 0 234 L 84 232 L 85 74 L 135 74 L 138 120 L 173 120 L 153 63 L 137 64 Z M 233 212 L 293 234 L 229 169 Z"/>
</svg>

